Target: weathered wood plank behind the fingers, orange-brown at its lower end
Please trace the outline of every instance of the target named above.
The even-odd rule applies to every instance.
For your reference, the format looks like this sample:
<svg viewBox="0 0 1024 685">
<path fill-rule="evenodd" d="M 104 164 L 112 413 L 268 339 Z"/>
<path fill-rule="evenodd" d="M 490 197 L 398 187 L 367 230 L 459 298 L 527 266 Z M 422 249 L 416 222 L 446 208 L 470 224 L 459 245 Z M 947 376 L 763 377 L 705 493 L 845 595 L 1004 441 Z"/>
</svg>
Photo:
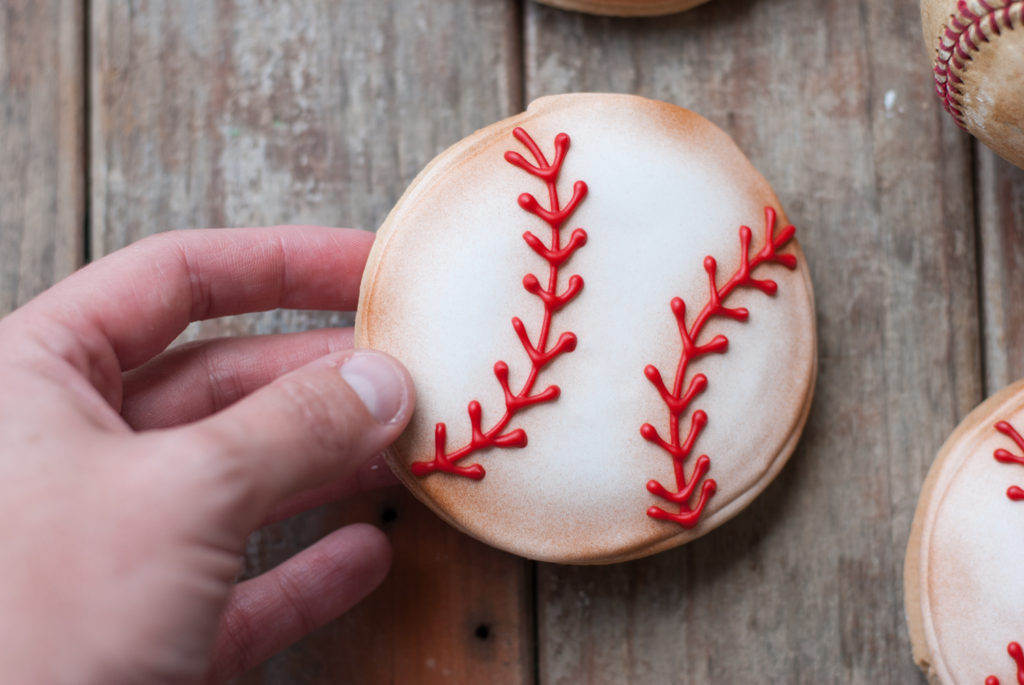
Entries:
<svg viewBox="0 0 1024 685">
<path fill-rule="evenodd" d="M 431 157 L 519 106 L 511 1 L 94 0 L 90 27 L 97 254 L 188 226 L 375 227 Z M 347 320 L 272 312 L 189 335 Z M 531 679 L 527 562 L 403 491 L 260 531 L 248 571 L 351 520 L 384 522 L 395 548 L 385 586 L 243 682 Z"/>
</svg>

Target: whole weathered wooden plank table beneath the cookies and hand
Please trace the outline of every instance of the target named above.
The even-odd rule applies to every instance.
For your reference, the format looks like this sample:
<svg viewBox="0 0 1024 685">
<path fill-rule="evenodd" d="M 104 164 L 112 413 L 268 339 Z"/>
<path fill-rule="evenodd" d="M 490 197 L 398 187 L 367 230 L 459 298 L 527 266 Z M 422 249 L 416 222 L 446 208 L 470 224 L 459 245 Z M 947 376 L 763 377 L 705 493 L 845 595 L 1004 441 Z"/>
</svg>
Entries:
<svg viewBox="0 0 1024 685">
<path fill-rule="evenodd" d="M 923 682 L 903 550 L 939 444 L 1024 376 L 1024 172 L 942 112 L 916 0 L 640 20 L 513 0 L 8 0 L 0 309 L 160 230 L 373 228 L 446 145 L 579 90 L 702 113 L 798 225 L 820 375 L 792 462 L 712 534 L 609 567 L 496 552 L 398 489 L 270 526 L 249 573 L 352 520 L 384 527 L 394 568 L 242 682 Z M 349 320 L 278 311 L 188 335 Z"/>
</svg>

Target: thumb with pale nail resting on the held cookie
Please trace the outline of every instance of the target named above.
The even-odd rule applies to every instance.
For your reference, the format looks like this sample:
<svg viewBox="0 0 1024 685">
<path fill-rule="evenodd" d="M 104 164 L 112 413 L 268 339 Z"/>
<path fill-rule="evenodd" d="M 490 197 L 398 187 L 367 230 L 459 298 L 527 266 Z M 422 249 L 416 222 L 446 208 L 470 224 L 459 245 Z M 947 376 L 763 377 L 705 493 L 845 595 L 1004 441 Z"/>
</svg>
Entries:
<svg viewBox="0 0 1024 685">
<path fill-rule="evenodd" d="M 373 350 L 331 354 L 182 430 L 207 438 L 221 467 L 246 480 L 259 518 L 295 493 L 353 476 L 401 433 L 413 381 Z"/>
</svg>

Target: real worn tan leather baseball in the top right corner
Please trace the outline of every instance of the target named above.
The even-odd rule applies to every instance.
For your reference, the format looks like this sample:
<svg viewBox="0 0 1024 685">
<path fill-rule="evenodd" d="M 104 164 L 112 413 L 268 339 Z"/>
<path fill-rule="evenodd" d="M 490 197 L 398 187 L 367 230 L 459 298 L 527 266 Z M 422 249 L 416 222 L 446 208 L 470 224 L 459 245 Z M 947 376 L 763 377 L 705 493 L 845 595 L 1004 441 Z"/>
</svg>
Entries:
<svg viewBox="0 0 1024 685">
<path fill-rule="evenodd" d="M 946 112 L 1024 167 L 1024 0 L 922 0 L 921 12 Z"/>
</svg>

